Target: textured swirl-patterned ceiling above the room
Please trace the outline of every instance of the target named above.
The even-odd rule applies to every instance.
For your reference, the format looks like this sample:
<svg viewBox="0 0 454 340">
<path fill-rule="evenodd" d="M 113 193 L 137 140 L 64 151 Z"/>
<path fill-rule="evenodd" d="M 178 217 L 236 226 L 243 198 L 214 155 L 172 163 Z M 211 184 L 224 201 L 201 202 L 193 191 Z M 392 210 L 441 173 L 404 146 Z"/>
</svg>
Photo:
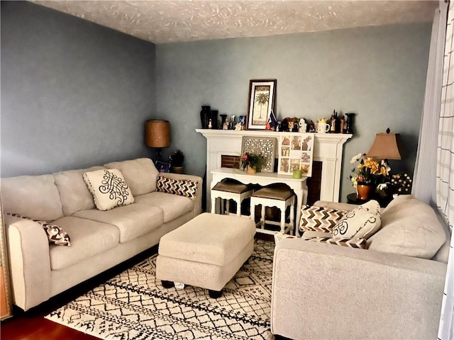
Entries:
<svg viewBox="0 0 454 340">
<path fill-rule="evenodd" d="M 33 1 L 156 44 L 432 21 L 438 1 Z"/>
</svg>

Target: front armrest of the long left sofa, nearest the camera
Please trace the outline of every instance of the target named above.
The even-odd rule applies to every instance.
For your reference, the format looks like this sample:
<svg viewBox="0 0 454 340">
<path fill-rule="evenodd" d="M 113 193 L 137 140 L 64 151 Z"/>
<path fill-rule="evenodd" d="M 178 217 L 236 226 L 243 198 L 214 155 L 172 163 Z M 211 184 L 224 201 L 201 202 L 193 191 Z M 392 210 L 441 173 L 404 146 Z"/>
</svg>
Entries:
<svg viewBox="0 0 454 340">
<path fill-rule="evenodd" d="M 4 215 L 4 222 L 13 303 L 29 310 L 51 296 L 48 237 L 43 227 L 32 220 Z"/>
</svg>

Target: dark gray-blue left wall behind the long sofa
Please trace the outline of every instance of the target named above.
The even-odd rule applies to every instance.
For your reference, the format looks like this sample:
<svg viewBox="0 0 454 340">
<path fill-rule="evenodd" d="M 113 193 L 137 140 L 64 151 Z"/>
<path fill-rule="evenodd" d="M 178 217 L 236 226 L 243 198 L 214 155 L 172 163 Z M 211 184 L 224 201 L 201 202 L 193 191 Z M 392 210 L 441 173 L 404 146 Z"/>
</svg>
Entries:
<svg viewBox="0 0 454 340">
<path fill-rule="evenodd" d="M 155 45 L 26 1 L 1 1 L 1 176 L 149 157 Z"/>
</svg>

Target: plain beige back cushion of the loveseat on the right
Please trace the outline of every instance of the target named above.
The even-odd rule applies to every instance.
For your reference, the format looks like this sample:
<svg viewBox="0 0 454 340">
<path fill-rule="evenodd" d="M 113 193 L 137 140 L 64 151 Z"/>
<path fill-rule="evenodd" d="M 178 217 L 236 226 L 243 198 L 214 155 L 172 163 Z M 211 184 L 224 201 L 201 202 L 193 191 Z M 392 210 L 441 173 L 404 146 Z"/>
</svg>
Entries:
<svg viewBox="0 0 454 340">
<path fill-rule="evenodd" d="M 446 235 L 436 213 L 411 195 L 398 196 L 382 211 L 382 229 L 368 240 L 368 248 L 431 259 Z"/>
</svg>

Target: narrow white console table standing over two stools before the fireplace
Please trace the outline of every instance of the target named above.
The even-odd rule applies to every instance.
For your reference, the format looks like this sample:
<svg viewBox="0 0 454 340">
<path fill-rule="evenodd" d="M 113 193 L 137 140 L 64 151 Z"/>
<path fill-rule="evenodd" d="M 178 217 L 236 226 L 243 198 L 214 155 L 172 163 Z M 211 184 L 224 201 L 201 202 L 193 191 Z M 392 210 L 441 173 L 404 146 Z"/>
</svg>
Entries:
<svg viewBox="0 0 454 340">
<path fill-rule="evenodd" d="M 257 174 L 250 175 L 246 171 L 233 168 L 218 168 L 211 171 L 211 185 L 210 189 L 216 186 L 216 183 L 223 179 L 236 179 L 241 183 L 260 184 L 260 186 L 267 186 L 272 183 L 285 183 L 292 188 L 297 196 L 297 218 L 295 225 L 299 225 L 299 217 L 301 215 L 301 205 L 306 204 L 307 200 L 307 186 L 306 178 L 294 179 L 292 176 L 279 175 L 275 172 L 258 172 Z"/>
</svg>

